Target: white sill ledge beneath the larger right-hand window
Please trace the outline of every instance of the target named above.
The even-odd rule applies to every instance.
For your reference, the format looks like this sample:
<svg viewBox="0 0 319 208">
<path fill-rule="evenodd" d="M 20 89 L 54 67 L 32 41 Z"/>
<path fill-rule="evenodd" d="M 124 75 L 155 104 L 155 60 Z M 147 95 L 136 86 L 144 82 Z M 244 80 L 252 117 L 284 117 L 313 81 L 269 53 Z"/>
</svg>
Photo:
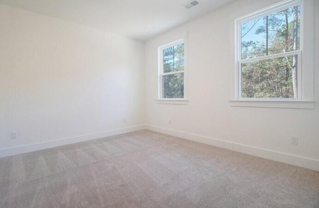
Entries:
<svg viewBox="0 0 319 208">
<path fill-rule="evenodd" d="M 315 108 L 314 101 L 232 100 L 229 103 L 230 106 L 238 107 Z"/>
</svg>

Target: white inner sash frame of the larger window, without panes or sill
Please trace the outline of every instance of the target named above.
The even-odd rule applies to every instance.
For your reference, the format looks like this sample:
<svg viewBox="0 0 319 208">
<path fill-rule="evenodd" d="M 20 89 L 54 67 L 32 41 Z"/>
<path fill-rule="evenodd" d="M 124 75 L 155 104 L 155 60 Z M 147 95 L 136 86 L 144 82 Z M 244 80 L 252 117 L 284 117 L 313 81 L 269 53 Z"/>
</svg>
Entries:
<svg viewBox="0 0 319 208">
<path fill-rule="evenodd" d="M 259 9 L 255 12 L 250 14 L 244 15 L 235 19 L 235 67 L 236 67 L 236 89 L 235 89 L 235 100 L 236 101 L 303 101 L 303 63 L 302 63 L 302 55 L 303 55 L 303 47 L 304 47 L 304 0 L 285 0 L 273 5 L 270 5 L 266 8 Z M 272 54 L 267 56 L 261 56 L 257 58 L 250 58 L 250 59 L 241 59 L 241 24 L 259 17 L 263 17 L 265 15 L 269 15 L 283 9 L 295 6 L 300 4 L 300 48 L 299 50 L 284 52 L 280 54 Z M 298 55 L 298 98 L 242 98 L 242 73 L 241 73 L 241 64 L 261 61 L 261 60 L 270 60 L 273 58 L 280 58 L 288 55 Z"/>
</svg>

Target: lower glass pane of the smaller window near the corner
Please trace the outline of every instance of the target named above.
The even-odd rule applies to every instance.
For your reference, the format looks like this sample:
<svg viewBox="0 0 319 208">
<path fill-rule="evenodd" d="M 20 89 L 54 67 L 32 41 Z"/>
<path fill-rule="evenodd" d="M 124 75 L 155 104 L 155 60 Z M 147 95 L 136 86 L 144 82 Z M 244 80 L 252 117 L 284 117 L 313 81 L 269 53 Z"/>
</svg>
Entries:
<svg viewBox="0 0 319 208">
<path fill-rule="evenodd" d="M 164 75 L 162 98 L 184 98 L 184 73 Z"/>
</svg>

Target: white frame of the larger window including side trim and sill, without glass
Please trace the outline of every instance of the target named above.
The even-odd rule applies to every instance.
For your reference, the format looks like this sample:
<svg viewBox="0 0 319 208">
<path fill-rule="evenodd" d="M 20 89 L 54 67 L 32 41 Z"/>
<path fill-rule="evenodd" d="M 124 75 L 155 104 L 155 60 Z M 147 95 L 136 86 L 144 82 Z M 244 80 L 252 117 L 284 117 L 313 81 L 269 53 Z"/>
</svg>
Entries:
<svg viewBox="0 0 319 208">
<path fill-rule="evenodd" d="M 306 1 L 306 2 L 305 2 Z M 241 60 L 241 24 L 252 19 L 256 19 L 271 13 L 281 11 L 285 8 L 300 4 L 300 48 L 296 51 L 285 52 Z M 234 99 L 230 100 L 231 106 L 252 106 L 252 107 L 280 107 L 280 108 L 314 108 L 313 102 L 313 49 L 310 48 L 313 40 L 314 30 L 312 24 L 305 26 L 305 22 L 314 22 L 313 18 L 313 0 L 285 0 L 266 8 L 257 10 L 248 15 L 235 18 L 232 22 L 235 25 L 235 94 Z M 304 11 L 307 9 L 307 13 Z M 305 27 L 307 27 L 305 30 Z M 310 30 L 310 31 L 309 31 Z M 304 31 L 307 31 L 305 33 Z M 308 32 L 309 31 L 309 32 Z M 306 46 L 306 50 L 305 50 Z M 305 53 L 308 55 L 305 58 Z M 298 98 L 242 98 L 241 92 L 241 64 L 251 61 L 268 60 L 289 55 L 298 54 Z"/>
</svg>

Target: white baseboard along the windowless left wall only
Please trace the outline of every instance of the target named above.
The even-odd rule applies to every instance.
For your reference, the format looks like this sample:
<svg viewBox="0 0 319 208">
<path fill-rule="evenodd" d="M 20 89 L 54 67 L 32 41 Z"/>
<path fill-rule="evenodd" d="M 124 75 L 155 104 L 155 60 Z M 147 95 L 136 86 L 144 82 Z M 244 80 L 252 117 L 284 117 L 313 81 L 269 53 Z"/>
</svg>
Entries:
<svg viewBox="0 0 319 208">
<path fill-rule="evenodd" d="M 92 134 L 62 138 L 62 139 L 58 139 L 58 140 L 51 140 L 51 141 L 45 141 L 45 142 L 40 142 L 40 143 L 34 143 L 34 144 L 28 144 L 28 145 L 23 145 L 23 146 L 0 149 L 0 158 L 12 156 L 12 155 L 18 155 L 18 154 L 22 154 L 22 153 L 26 153 L 26 152 L 33 152 L 33 151 L 37 151 L 37 150 L 58 147 L 58 146 L 67 145 L 67 144 L 74 144 L 74 143 L 78 143 L 78 142 L 89 141 L 89 140 L 93 140 L 93 139 L 99 139 L 99 138 L 103 138 L 103 137 L 107 137 L 107 136 L 114 136 L 114 135 L 118 135 L 118 134 L 129 133 L 129 132 L 133 132 L 133 131 L 142 130 L 145 128 L 146 128 L 145 125 L 137 125 L 137 126 L 131 126 L 131 127 L 126 127 L 126 128 L 109 130 L 109 131 L 103 131 L 103 132 L 99 132 L 99 133 L 92 133 Z"/>
</svg>

